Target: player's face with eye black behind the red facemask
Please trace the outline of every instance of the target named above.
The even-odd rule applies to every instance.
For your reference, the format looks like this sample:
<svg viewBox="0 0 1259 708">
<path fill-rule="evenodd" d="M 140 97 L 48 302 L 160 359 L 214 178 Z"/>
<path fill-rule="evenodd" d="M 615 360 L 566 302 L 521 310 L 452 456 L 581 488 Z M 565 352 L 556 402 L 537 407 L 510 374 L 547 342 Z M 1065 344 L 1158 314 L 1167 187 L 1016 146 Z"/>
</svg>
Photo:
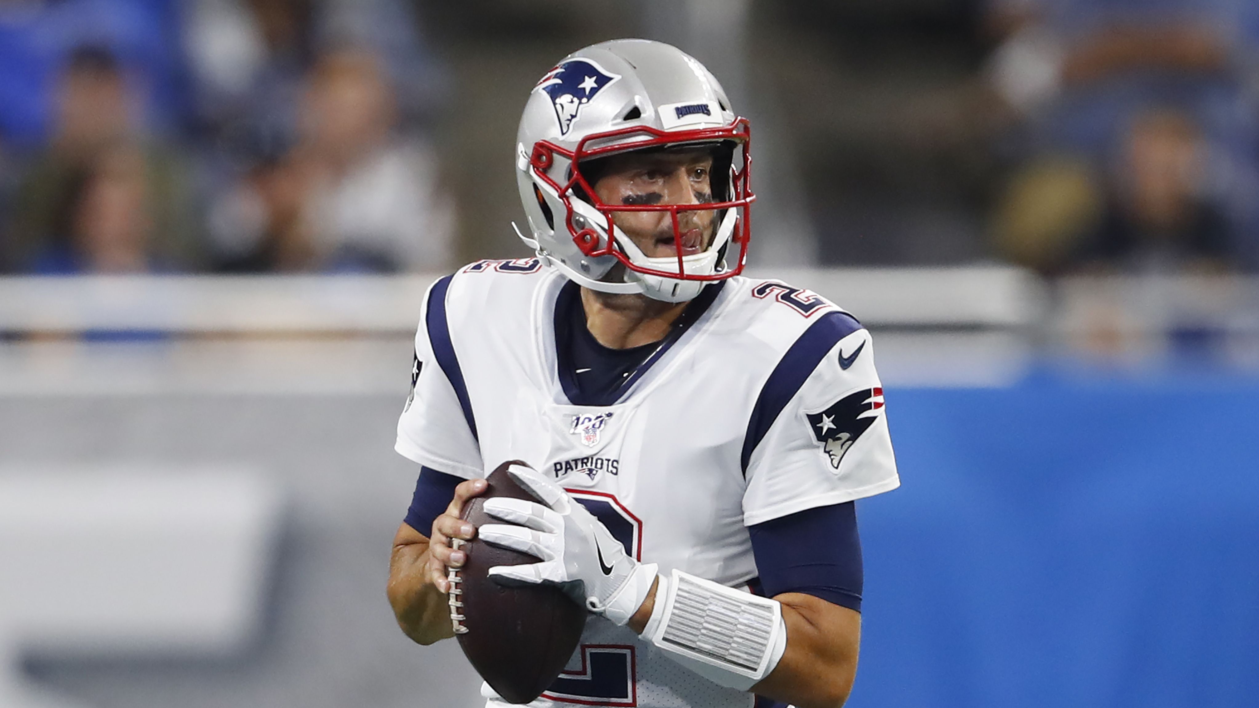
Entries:
<svg viewBox="0 0 1259 708">
<path fill-rule="evenodd" d="M 592 185 L 599 201 L 614 205 L 710 204 L 709 172 L 713 156 L 706 150 L 656 153 L 624 153 L 607 158 L 602 175 Z M 612 220 L 647 258 L 701 253 L 713 243 L 714 213 L 677 213 L 677 239 L 669 211 L 614 211 Z"/>
</svg>

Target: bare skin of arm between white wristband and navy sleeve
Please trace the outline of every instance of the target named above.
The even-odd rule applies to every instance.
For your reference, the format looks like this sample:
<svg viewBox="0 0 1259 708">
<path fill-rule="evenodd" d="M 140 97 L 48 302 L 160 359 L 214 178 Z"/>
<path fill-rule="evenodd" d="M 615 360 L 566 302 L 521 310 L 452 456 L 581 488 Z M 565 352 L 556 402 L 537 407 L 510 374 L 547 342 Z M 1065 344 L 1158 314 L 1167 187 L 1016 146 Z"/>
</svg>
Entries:
<svg viewBox="0 0 1259 708">
<path fill-rule="evenodd" d="M 811 595 L 788 592 L 782 604 L 787 650 L 753 693 L 798 708 L 838 708 L 852 690 L 861 615 Z"/>
</svg>

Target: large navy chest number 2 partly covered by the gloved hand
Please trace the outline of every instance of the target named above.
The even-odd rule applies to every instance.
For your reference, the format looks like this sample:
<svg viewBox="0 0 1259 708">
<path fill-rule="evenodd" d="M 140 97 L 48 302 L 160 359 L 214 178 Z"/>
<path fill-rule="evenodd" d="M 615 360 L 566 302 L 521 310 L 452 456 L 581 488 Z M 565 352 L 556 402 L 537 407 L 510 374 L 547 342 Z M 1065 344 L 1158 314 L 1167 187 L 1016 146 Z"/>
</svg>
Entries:
<svg viewBox="0 0 1259 708">
<path fill-rule="evenodd" d="M 642 523 L 612 494 L 569 489 L 574 499 L 612 532 L 635 558 L 642 556 Z M 635 648 L 621 644 L 583 644 L 582 667 L 564 672 L 543 693 L 544 698 L 579 705 L 638 704 Z"/>
</svg>

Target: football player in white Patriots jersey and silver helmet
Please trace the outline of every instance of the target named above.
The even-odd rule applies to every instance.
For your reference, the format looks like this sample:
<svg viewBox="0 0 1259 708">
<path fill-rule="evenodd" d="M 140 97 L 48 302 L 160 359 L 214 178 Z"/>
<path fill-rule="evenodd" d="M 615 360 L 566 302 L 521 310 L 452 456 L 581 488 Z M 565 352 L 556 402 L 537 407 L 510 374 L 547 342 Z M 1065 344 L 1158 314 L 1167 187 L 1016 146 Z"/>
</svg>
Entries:
<svg viewBox="0 0 1259 708">
<path fill-rule="evenodd" d="M 682 52 L 570 54 L 520 121 L 535 257 L 428 292 L 397 441 L 422 467 L 389 599 L 429 644 L 454 633 L 456 539 L 543 558 L 491 576 L 559 585 L 596 616 L 534 705 L 832 708 L 851 689 L 854 501 L 899 484 L 883 389 L 850 314 L 740 275 L 749 146 Z M 512 459 L 539 502 L 490 499 L 501 523 L 460 521 Z"/>
</svg>

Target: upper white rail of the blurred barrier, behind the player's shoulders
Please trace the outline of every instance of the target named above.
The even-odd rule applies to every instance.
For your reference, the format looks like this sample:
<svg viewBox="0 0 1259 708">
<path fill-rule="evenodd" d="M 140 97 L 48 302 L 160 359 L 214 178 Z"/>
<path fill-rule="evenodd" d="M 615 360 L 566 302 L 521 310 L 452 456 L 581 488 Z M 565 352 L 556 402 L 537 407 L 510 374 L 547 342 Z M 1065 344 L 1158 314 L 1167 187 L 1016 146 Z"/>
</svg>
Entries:
<svg viewBox="0 0 1259 708">
<path fill-rule="evenodd" d="M 1042 284 L 1012 267 L 749 269 L 810 288 L 869 326 L 1022 326 Z M 437 275 L 88 275 L 0 278 L 0 331 L 405 333 Z"/>
</svg>

